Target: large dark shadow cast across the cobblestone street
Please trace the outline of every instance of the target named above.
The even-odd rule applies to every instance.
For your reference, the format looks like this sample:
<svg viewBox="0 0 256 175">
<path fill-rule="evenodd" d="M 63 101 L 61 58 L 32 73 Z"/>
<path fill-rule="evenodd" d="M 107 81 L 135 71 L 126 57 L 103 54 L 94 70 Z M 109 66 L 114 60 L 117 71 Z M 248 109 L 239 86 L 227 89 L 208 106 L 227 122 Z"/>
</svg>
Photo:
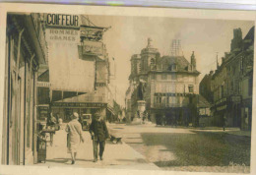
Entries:
<svg viewBox="0 0 256 175">
<path fill-rule="evenodd" d="M 141 137 L 146 147 L 164 146 L 166 149 L 160 151 L 175 155 L 172 160 L 155 161 L 159 167 L 228 166 L 230 162 L 250 166 L 249 137 L 211 132 L 195 132 L 195 135 L 142 133 Z"/>
</svg>

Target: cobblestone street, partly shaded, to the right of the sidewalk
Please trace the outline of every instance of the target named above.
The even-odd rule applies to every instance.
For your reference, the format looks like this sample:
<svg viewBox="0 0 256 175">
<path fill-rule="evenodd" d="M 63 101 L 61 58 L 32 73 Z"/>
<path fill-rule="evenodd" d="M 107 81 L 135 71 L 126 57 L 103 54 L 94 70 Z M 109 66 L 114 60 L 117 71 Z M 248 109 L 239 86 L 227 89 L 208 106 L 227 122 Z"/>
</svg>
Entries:
<svg viewBox="0 0 256 175">
<path fill-rule="evenodd" d="M 122 126 L 124 141 L 164 170 L 250 172 L 250 137 L 233 129 Z M 248 135 L 248 134 L 247 134 Z"/>
</svg>

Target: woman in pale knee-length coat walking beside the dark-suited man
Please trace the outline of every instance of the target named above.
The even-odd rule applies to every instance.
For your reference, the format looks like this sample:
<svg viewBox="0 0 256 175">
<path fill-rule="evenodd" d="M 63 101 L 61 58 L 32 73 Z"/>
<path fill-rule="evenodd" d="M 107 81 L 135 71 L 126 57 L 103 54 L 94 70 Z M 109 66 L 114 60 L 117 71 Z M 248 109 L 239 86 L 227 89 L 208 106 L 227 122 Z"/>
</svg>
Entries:
<svg viewBox="0 0 256 175">
<path fill-rule="evenodd" d="M 82 126 L 78 121 L 79 115 L 77 112 L 74 112 L 72 115 L 72 120 L 66 126 L 67 136 L 67 146 L 68 153 L 71 153 L 72 164 L 75 164 L 77 150 L 81 143 L 84 143 Z"/>
</svg>

